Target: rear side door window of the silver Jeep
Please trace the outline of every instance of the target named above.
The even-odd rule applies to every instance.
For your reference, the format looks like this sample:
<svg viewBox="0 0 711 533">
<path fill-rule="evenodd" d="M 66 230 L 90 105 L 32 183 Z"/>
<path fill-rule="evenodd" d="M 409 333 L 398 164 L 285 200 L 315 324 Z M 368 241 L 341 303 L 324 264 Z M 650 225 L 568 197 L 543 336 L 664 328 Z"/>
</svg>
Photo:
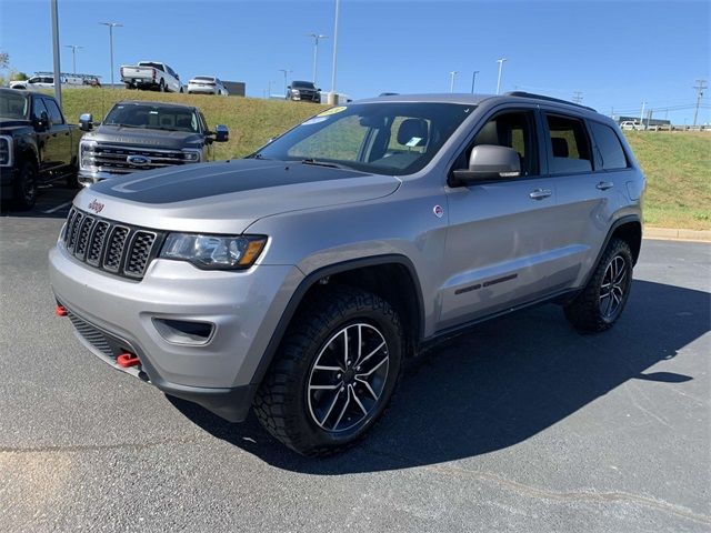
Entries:
<svg viewBox="0 0 711 533">
<path fill-rule="evenodd" d="M 547 114 L 551 174 L 592 172 L 585 124 L 580 119 Z"/>
</svg>

